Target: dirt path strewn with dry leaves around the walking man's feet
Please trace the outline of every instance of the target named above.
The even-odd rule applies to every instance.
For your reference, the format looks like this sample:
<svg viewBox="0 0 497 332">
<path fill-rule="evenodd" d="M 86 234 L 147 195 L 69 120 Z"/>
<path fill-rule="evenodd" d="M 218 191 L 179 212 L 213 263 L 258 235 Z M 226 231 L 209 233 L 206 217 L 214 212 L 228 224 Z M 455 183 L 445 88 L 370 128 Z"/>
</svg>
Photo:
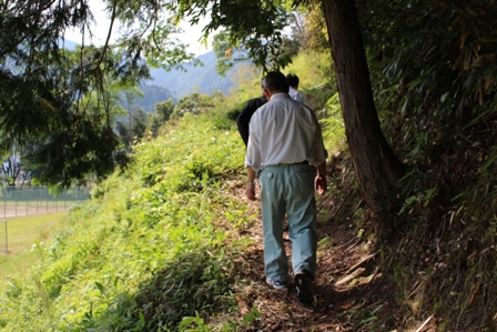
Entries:
<svg viewBox="0 0 497 332">
<path fill-rule="evenodd" d="M 255 213 L 260 210 L 258 201 L 245 201 Z M 318 205 L 329 208 L 329 197 L 320 199 Z M 341 215 L 347 214 L 344 212 Z M 388 266 L 381 265 L 378 253 L 372 252 L 367 240 L 358 239 L 358 230 L 347 218 L 325 221 L 321 215 L 318 220 L 318 266 L 312 305 L 298 303 L 294 284 L 283 292 L 271 289 L 265 283 L 260 218 L 258 213 L 258 221 L 246 230 L 254 244 L 237 260 L 246 284 L 237 292 L 239 312 L 243 316 L 256 306 L 262 315 L 246 331 L 435 331 L 429 320 L 409 321 L 406 308 L 395 301 L 393 283 L 382 274 Z M 285 237 L 290 258 L 286 232 Z"/>
</svg>

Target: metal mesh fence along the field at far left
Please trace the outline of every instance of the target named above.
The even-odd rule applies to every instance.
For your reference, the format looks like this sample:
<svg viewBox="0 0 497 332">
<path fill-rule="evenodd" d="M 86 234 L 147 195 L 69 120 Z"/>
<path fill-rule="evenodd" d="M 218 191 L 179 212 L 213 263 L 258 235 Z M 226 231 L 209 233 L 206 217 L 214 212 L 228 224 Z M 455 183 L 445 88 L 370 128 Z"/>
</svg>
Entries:
<svg viewBox="0 0 497 332">
<path fill-rule="evenodd" d="M 65 211 L 90 198 L 90 188 L 75 187 L 58 195 L 45 187 L 7 187 L 0 191 L 0 218 Z"/>
</svg>

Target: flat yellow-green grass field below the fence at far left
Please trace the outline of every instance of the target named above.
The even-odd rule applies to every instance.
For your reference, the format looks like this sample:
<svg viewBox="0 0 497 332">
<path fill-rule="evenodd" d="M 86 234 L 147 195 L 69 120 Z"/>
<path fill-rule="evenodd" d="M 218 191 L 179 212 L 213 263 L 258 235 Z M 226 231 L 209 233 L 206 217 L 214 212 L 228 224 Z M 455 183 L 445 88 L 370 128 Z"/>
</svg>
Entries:
<svg viewBox="0 0 497 332">
<path fill-rule="evenodd" d="M 0 288 L 9 275 L 23 273 L 39 259 L 38 251 L 31 251 L 62 224 L 65 212 L 27 215 L 7 219 L 8 249 L 6 253 L 6 224 L 0 222 Z"/>
</svg>

